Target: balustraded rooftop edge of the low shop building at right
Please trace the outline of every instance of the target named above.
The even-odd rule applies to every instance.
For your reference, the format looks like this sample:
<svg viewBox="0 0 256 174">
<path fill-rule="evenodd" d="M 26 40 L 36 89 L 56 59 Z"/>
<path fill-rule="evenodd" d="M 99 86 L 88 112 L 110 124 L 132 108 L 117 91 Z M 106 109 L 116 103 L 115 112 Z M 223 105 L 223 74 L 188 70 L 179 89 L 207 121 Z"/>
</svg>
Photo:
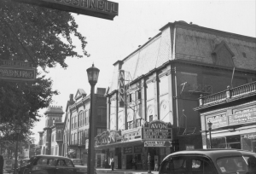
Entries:
<svg viewBox="0 0 256 174">
<path fill-rule="evenodd" d="M 231 102 L 237 99 L 246 98 L 249 96 L 256 95 L 256 81 L 250 84 L 244 84 L 237 86 L 236 88 L 230 88 L 228 86 L 227 90 L 209 95 L 202 96 L 199 99 L 200 107 L 207 107 L 212 105 L 217 105 L 219 103 Z"/>
</svg>

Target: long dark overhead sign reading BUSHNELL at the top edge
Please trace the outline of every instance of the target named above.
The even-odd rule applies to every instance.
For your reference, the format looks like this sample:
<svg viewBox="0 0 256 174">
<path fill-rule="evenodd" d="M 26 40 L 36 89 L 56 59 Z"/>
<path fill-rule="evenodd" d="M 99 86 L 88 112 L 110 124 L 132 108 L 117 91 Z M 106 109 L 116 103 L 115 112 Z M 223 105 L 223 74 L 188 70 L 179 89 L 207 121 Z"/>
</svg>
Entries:
<svg viewBox="0 0 256 174">
<path fill-rule="evenodd" d="M 77 14 L 90 15 L 105 20 L 113 20 L 119 14 L 119 3 L 107 0 L 13 0 L 50 9 L 59 9 Z"/>
</svg>

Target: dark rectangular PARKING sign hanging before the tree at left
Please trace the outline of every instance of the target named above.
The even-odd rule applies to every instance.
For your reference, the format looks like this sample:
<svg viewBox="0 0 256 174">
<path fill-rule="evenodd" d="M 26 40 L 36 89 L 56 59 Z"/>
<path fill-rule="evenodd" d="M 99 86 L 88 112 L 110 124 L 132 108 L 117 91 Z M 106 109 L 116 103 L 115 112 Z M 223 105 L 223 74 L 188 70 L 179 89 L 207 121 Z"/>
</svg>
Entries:
<svg viewBox="0 0 256 174">
<path fill-rule="evenodd" d="M 0 60 L 0 79 L 33 81 L 36 79 L 36 68 L 26 61 Z"/>
</svg>

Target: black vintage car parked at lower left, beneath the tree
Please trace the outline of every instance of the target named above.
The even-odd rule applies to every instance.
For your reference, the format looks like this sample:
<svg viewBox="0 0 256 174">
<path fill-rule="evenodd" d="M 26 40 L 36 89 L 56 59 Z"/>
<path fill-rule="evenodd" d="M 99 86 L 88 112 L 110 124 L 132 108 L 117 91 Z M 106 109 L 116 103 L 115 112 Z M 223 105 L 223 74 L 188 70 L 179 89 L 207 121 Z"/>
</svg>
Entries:
<svg viewBox="0 0 256 174">
<path fill-rule="evenodd" d="M 19 174 L 76 174 L 77 168 L 71 159 L 53 155 L 38 155 L 20 166 Z"/>
</svg>

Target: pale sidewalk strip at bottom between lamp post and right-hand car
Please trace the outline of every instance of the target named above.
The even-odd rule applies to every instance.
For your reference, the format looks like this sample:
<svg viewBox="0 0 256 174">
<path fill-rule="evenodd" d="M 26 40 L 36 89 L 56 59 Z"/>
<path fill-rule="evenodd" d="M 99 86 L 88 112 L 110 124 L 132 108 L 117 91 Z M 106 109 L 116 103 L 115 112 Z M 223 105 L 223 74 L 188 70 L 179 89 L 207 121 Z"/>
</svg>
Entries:
<svg viewBox="0 0 256 174">
<path fill-rule="evenodd" d="M 146 170 L 134 170 L 134 169 L 104 169 L 104 168 L 96 168 L 97 174 L 148 174 Z M 158 174 L 158 171 L 151 171 L 152 174 Z"/>
</svg>

